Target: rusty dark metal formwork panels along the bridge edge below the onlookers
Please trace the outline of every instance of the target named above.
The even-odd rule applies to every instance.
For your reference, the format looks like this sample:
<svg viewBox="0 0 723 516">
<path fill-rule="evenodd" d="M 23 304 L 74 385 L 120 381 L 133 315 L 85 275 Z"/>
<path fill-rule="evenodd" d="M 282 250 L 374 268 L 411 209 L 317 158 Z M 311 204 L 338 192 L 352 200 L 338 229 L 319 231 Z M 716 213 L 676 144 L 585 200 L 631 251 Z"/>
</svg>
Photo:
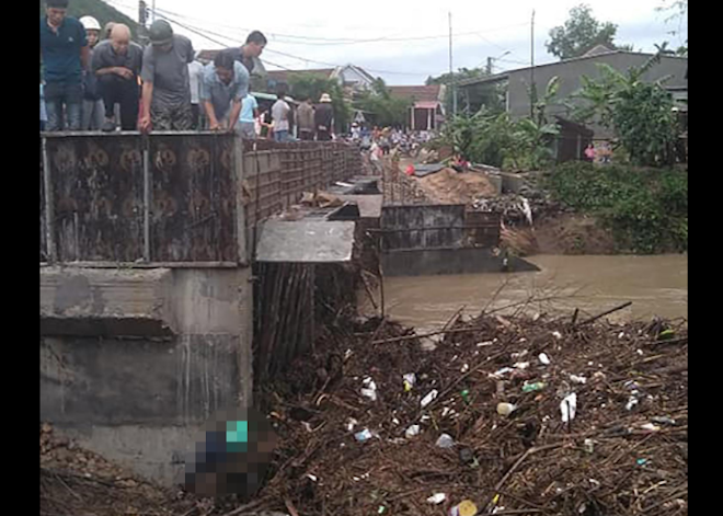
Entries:
<svg viewBox="0 0 723 516">
<path fill-rule="evenodd" d="M 256 221 L 362 173 L 345 144 L 216 133 L 47 134 L 41 150 L 41 262 L 90 266 L 245 263 Z"/>
</svg>

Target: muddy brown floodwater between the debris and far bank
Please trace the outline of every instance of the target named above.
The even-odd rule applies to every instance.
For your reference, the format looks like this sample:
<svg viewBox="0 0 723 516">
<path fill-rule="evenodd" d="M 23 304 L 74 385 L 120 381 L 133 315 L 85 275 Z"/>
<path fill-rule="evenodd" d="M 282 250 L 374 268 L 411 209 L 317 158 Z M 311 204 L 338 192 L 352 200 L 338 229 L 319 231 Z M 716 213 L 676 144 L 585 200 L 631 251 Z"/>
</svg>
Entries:
<svg viewBox="0 0 723 516">
<path fill-rule="evenodd" d="M 528 313 L 572 316 L 579 320 L 632 301 L 612 321 L 688 318 L 688 255 L 550 256 L 526 259 L 532 273 L 391 277 L 385 280 L 387 313 L 404 324 L 429 329 L 445 324 L 462 306 L 468 314 L 483 308 L 523 307 Z M 496 293 L 496 296 L 495 296 Z M 365 311 L 371 307 L 362 294 Z M 379 303 L 379 294 L 375 295 Z M 529 301 L 529 302 L 526 302 Z"/>
</svg>

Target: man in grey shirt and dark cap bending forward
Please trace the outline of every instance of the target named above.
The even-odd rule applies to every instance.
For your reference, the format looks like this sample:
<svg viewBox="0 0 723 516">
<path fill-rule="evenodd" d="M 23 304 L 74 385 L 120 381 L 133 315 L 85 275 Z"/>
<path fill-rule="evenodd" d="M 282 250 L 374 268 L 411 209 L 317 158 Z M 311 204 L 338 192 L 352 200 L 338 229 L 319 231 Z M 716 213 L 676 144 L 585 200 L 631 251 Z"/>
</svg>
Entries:
<svg viewBox="0 0 723 516">
<path fill-rule="evenodd" d="M 150 45 L 144 54 L 144 114 L 140 130 L 191 130 L 191 82 L 188 64 L 194 50 L 191 39 L 173 34 L 171 24 L 157 20 L 149 30 Z"/>
</svg>

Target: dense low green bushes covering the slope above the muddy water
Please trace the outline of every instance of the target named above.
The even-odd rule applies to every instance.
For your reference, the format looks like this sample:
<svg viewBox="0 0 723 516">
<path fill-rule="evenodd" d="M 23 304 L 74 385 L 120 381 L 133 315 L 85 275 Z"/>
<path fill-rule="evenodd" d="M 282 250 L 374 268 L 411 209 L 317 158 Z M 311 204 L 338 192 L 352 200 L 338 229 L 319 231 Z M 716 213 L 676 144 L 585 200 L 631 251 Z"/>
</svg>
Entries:
<svg viewBox="0 0 723 516">
<path fill-rule="evenodd" d="M 687 172 L 571 162 L 555 168 L 544 186 L 567 206 L 596 216 L 621 251 L 688 250 Z"/>
</svg>

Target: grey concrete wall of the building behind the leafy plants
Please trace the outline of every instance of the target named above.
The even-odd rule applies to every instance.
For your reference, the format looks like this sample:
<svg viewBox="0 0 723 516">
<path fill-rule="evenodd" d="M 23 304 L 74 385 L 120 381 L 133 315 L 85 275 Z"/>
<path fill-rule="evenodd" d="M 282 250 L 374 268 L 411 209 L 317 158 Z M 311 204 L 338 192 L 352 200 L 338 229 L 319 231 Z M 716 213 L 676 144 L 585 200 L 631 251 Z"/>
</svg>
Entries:
<svg viewBox="0 0 723 516">
<path fill-rule="evenodd" d="M 560 90 L 558 92 L 558 102 L 549 106 L 548 115 L 561 115 L 566 117 L 566 108 L 562 105 L 562 101 L 570 96 L 572 93 L 579 90 L 581 77 L 587 76 L 590 78 L 600 77 L 598 69 L 599 64 L 607 64 L 618 71 L 627 72 L 627 70 L 634 66 L 642 66 L 647 59 L 649 55 L 633 54 L 633 53 L 611 53 L 602 54 L 592 58 L 573 59 L 565 62 L 555 62 L 551 65 L 538 66 L 535 68 L 535 83 L 538 88 L 539 96 L 542 96 L 548 82 L 553 77 L 560 78 Z M 666 76 L 672 76 L 670 80 L 666 82 L 666 87 L 687 87 L 688 81 L 685 79 L 686 70 L 688 69 L 688 59 L 679 57 L 663 57 L 657 66 L 654 66 L 643 79 L 646 81 L 655 81 Z M 530 102 L 528 95 L 528 88 L 531 81 L 530 69 L 525 68 L 521 70 L 513 70 L 509 72 L 508 83 L 508 111 L 514 117 L 529 116 Z M 595 130 L 596 137 L 610 136 L 607 130 L 600 126 L 590 126 Z"/>
</svg>

